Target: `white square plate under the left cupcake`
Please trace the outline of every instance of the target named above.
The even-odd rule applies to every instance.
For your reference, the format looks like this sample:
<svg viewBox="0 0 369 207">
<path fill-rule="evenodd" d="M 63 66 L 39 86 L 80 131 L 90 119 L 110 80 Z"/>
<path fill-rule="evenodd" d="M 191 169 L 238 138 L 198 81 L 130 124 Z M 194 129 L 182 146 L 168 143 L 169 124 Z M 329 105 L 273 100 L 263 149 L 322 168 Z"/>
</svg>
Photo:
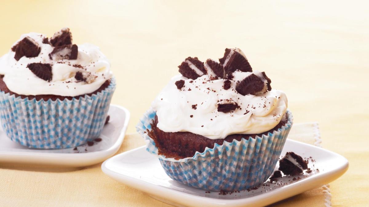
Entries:
<svg viewBox="0 0 369 207">
<path fill-rule="evenodd" d="M 58 150 L 40 150 L 28 148 L 11 141 L 3 130 L 0 131 L 0 163 L 19 163 L 79 167 L 97 164 L 114 155 L 123 142 L 125 130 L 130 120 L 127 109 L 110 105 L 110 121 L 101 132 L 100 142 L 73 148 Z"/>
</svg>

